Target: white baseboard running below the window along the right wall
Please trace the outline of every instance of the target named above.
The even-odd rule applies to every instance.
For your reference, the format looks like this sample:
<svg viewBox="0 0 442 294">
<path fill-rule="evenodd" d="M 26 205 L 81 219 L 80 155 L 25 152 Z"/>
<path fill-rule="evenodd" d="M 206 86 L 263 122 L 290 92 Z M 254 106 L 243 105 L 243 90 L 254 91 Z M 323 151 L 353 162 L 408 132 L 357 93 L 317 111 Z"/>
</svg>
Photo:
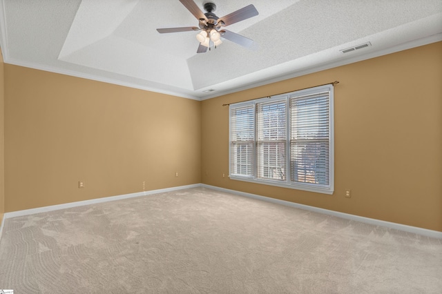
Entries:
<svg viewBox="0 0 442 294">
<path fill-rule="evenodd" d="M 226 189 L 226 188 L 220 188 L 220 187 L 210 186 L 210 185 L 206 185 L 206 184 L 201 184 L 201 186 L 204 187 L 204 188 L 212 189 L 212 190 L 219 190 L 219 191 L 222 191 L 222 192 L 231 193 L 231 194 L 235 194 L 235 195 L 240 195 L 240 196 L 244 196 L 244 197 L 249 197 L 249 198 L 253 198 L 253 199 L 258 199 L 258 200 L 262 200 L 262 201 L 265 201 L 265 202 L 271 202 L 271 203 L 274 203 L 274 204 L 281 204 L 281 205 L 285 205 L 285 206 L 291 206 L 291 207 L 294 207 L 294 208 L 300 208 L 300 209 L 303 209 L 303 210 L 313 211 L 315 213 L 323 213 L 325 215 L 334 215 L 335 217 L 341 217 L 343 219 L 351 219 L 351 220 L 354 220 L 356 222 L 363 222 L 365 224 L 372 224 L 372 225 L 375 225 L 375 226 L 384 226 L 386 228 L 393 228 L 393 229 L 399 230 L 399 231 L 405 231 L 405 232 L 408 232 L 408 233 L 419 234 L 419 235 L 423 235 L 423 236 L 426 236 L 426 237 L 442 239 L 442 232 L 432 231 L 432 230 L 428 230 L 426 228 L 418 228 L 416 226 L 407 226 L 405 224 L 396 224 L 394 222 L 385 222 L 385 221 L 380 220 L 380 219 L 371 219 L 369 217 L 360 217 L 358 215 L 350 215 L 348 213 L 340 213 L 340 212 L 334 211 L 334 210 L 328 210 L 328 209 L 324 209 L 324 208 L 318 208 L 318 207 L 314 207 L 314 206 L 308 206 L 308 205 L 304 205 L 304 204 L 288 202 L 288 201 L 285 201 L 285 200 L 280 200 L 280 199 L 275 199 L 275 198 L 271 198 L 271 197 L 255 195 L 255 194 L 251 194 L 251 193 L 244 193 L 244 192 L 240 192 L 240 191 L 237 191 L 237 190 L 229 190 L 229 189 Z"/>
</svg>

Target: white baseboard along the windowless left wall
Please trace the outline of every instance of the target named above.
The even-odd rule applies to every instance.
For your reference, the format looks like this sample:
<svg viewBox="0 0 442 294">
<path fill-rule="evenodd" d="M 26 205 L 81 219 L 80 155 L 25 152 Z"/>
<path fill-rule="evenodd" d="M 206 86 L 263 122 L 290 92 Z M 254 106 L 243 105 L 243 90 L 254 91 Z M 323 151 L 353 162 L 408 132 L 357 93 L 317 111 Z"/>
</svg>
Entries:
<svg viewBox="0 0 442 294">
<path fill-rule="evenodd" d="M 128 198 L 140 197 L 140 196 L 145 196 L 145 195 L 153 195 L 153 194 L 158 194 L 158 193 L 171 192 L 171 191 L 175 191 L 175 190 L 183 190 L 183 189 L 196 188 L 196 187 L 200 187 L 200 184 L 193 184 L 193 185 L 187 185 L 187 186 L 177 186 L 177 187 L 172 187 L 172 188 L 150 190 L 150 191 L 144 191 L 144 192 L 138 192 L 138 193 L 125 194 L 125 195 L 117 195 L 117 196 L 111 196 L 111 197 L 103 197 L 103 198 L 97 198 L 97 199 L 84 200 L 84 201 L 79 201 L 79 202 L 70 202 L 70 203 L 66 203 L 66 204 L 57 204 L 57 205 L 52 205 L 52 206 L 44 206 L 44 207 L 39 207 L 39 208 L 12 211 L 11 213 L 5 213 L 5 215 L 3 216 L 3 222 L 1 223 L 1 226 L 3 228 L 4 219 L 9 219 L 11 217 L 21 217 L 23 215 L 33 215 L 35 213 L 46 213 L 46 212 L 52 211 L 52 210 L 66 209 L 66 208 L 72 208 L 72 207 L 77 207 L 77 206 L 97 204 L 97 203 L 103 203 L 103 202 L 109 202 L 109 201 L 115 201 L 115 200 L 121 200 L 121 199 L 128 199 Z"/>
</svg>

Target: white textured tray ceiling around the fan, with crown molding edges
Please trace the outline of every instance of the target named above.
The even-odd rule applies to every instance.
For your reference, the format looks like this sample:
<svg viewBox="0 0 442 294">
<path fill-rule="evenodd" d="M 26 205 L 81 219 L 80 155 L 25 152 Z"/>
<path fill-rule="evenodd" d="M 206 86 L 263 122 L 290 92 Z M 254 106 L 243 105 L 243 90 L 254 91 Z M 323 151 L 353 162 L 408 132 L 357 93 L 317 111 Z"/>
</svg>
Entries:
<svg viewBox="0 0 442 294">
<path fill-rule="evenodd" d="M 442 40 L 442 0 L 211 2 L 218 17 L 256 7 L 227 27 L 256 50 L 224 40 L 197 54 L 197 32 L 159 34 L 198 26 L 178 0 L 1 0 L 3 59 L 200 100 Z"/>
</svg>

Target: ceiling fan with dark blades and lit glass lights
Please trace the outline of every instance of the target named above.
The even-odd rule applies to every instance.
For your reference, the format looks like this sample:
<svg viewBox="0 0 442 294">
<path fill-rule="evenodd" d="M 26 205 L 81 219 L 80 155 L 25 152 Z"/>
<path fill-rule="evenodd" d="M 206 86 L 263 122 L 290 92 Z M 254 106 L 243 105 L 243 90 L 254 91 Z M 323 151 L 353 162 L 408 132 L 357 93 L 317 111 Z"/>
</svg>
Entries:
<svg viewBox="0 0 442 294">
<path fill-rule="evenodd" d="M 251 48 L 253 46 L 253 40 L 222 28 L 224 26 L 237 23 L 238 21 L 243 21 L 244 19 L 256 17 L 256 15 L 258 15 L 258 10 L 256 10 L 255 6 L 252 4 L 231 12 L 224 17 L 217 17 L 213 13 L 216 10 L 214 3 L 204 3 L 204 10 L 206 10 L 206 13 L 203 13 L 193 0 L 180 0 L 180 2 L 191 12 L 191 14 L 193 14 L 193 16 L 196 17 L 196 19 L 198 19 L 198 27 L 187 26 L 182 28 L 157 28 L 157 31 L 160 32 L 160 34 L 200 30 L 201 32 L 196 35 L 196 39 L 200 41 L 200 46 L 198 46 L 197 53 L 204 53 L 208 48 L 210 50 L 211 43 L 213 43 L 216 48 L 216 46 L 222 43 L 220 39 L 221 37 L 246 48 Z"/>
</svg>

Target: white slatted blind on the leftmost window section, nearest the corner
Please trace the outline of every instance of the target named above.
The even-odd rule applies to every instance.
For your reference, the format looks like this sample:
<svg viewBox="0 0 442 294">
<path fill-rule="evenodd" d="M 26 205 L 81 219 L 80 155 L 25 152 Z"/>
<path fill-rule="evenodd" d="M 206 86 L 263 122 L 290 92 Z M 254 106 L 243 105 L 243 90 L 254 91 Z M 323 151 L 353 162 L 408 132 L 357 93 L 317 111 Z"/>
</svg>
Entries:
<svg viewBox="0 0 442 294">
<path fill-rule="evenodd" d="M 253 176 L 255 157 L 255 106 L 230 110 L 230 173 Z"/>
</svg>

